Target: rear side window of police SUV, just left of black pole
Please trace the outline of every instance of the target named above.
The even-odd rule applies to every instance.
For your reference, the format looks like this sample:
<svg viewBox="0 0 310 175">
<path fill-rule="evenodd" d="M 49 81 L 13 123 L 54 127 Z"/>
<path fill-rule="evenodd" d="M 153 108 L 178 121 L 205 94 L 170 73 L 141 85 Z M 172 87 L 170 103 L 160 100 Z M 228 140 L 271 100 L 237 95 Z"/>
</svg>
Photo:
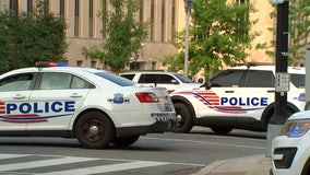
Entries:
<svg viewBox="0 0 310 175">
<path fill-rule="evenodd" d="M 272 71 L 249 70 L 242 86 L 274 88 L 275 78 Z"/>
</svg>

